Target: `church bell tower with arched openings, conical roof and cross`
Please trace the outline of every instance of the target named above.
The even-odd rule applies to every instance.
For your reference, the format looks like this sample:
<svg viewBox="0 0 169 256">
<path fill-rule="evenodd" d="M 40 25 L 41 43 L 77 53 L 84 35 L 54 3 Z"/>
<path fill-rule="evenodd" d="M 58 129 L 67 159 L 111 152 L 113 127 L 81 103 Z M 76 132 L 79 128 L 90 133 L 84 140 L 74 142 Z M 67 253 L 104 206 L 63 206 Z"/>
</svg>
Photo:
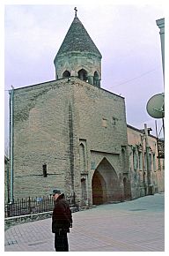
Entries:
<svg viewBox="0 0 169 256">
<path fill-rule="evenodd" d="M 77 18 L 77 7 L 74 10 L 75 18 L 55 56 L 55 79 L 74 76 L 100 87 L 102 56 Z"/>
</svg>

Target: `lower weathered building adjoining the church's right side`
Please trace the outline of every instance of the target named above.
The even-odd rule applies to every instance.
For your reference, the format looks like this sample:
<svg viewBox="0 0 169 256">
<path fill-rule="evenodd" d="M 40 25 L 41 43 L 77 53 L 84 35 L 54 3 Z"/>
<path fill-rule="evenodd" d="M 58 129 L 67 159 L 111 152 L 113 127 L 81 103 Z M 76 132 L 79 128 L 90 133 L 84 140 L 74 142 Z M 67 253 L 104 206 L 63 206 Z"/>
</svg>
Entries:
<svg viewBox="0 0 169 256">
<path fill-rule="evenodd" d="M 164 152 L 159 150 L 159 145 L 164 146 L 164 141 L 158 141 L 150 132 L 146 125 L 143 130 L 138 130 L 128 124 L 132 198 L 165 191 Z"/>
</svg>

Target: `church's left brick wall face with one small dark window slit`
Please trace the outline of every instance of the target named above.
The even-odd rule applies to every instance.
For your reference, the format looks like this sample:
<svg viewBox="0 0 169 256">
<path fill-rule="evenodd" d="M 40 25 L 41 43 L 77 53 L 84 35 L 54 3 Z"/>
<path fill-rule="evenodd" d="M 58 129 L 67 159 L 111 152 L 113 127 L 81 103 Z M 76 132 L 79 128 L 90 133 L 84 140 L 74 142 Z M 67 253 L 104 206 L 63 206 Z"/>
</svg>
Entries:
<svg viewBox="0 0 169 256">
<path fill-rule="evenodd" d="M 58 186 L 64 190 L 65 180 L 70 189 L 70 90 L 66 86 L 62 80 L 15 90 L 15 198 L 45 195 Z M 44 163 L 48 177 L 43 177 Z"/>
</svg>

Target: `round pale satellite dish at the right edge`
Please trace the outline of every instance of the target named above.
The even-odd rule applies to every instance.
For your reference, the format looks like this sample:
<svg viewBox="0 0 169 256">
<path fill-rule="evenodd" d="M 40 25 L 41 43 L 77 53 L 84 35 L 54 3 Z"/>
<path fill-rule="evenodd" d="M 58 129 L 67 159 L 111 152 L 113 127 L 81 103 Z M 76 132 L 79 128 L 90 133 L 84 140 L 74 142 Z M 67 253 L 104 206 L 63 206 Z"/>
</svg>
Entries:
<svg viewBox="0 0 169 256">
<path fill-rule="evenodd" d="M 147 112 L 151 117 L 165 117 L 165 94 L 156 94 L 147 102 Z"/>
</svg>

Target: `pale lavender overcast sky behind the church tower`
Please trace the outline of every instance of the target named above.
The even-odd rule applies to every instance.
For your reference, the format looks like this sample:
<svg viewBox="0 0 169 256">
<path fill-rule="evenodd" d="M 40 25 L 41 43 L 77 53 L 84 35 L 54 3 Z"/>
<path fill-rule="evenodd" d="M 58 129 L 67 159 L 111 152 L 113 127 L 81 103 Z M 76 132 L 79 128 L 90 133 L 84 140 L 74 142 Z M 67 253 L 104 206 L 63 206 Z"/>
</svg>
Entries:
<svg viewBox="0 0 169 256">
<path fill-rule="evenodd" d="M 75 6 L 78 19 L 102 54 L 101 87 L 125 97 L 128 124 L 143 129 L 146 123 L 155 134 L 146 103 L 164 91 L 156 25 L 157 19 L 164 18 L 163 4 L 6 5 L 5 90 L 55 79 L 54 58 L 74 19 Z M 7 108 L 5 91 L 6 134 Z M 161 125 L 158 120 L 158 130 Z"/>
</svg>

